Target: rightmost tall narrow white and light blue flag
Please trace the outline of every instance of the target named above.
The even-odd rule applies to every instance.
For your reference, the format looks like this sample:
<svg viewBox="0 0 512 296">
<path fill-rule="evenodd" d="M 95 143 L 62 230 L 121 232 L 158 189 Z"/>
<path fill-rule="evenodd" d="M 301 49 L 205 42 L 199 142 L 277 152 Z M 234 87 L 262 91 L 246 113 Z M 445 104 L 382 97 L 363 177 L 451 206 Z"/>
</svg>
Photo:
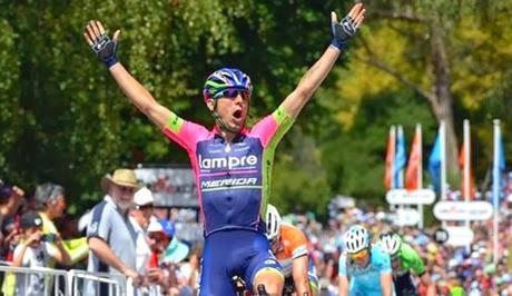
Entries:
<svg viewBox="0 0 512 296">
<path fill-rule="evenodd" d="M 498 253 L 499 253 L 499 200 L 500 200 L 500 139 L 501 139 L 501 130 L 500 130 L 500 120 L 493 120 L 493 129 L 494 129 L 494 159 L 493 159 L 493 167 L 492 167 L 492 201 L 493 201 L 493 262 L 494 264 L 498 263 Z"/>
</svg>

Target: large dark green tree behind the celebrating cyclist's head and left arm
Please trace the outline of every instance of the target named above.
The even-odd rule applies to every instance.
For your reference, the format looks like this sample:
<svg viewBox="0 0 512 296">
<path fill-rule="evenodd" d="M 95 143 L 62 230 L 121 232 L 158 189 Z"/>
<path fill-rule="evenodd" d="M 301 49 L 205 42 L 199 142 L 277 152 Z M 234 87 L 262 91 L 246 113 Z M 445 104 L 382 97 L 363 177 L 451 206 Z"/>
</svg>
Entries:
<svg viewBox="0 0 512 296">
<path fill-rule="evenodd" d="M 82 38 L 87 21 L 102 20 L 110 32 L 122 29 L 119 56 L 129 70 L 165 106 L 211 125 L 200 95 L 208 72 L 239 66 L 250 73 L 253 120 L 262 117 L 328 45 L 328 11 L 338 3 L 0 2 L 0 65 L 7 69 L 0 73 L 1 167 L 28 188 L 63 184 L 71 211 L 97 200 L 101 175 L 116 167 L 187 161 L 127 103 L 95 59 Z M 313 130 L 314 121 L 305 128 Z"/>
</svg>

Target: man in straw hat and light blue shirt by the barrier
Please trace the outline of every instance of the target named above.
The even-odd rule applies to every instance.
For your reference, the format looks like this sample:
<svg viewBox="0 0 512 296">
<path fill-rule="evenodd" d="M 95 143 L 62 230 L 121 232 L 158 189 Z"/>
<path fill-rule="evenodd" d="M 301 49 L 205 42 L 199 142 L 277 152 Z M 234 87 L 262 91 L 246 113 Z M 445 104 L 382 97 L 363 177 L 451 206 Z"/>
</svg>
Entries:
<svg viewBox="0 0 512 296">
<path fill-rule="evenodd" d="M 107 195 L 92 208 L 91 220 L 87 227 L 90 249 L 87 270 L 122 275 L 137 284 L 137 234 L 128 215 L 134 203 L 134 193 L 138 189 L 135 171 L 117 169 L 114 175 L 101 179 L 101 189 Z M 88 280 L 86 295 L 108 295 L 107 288 L 106 285 L 95 285 L 92 280 Z"/>
</svg>

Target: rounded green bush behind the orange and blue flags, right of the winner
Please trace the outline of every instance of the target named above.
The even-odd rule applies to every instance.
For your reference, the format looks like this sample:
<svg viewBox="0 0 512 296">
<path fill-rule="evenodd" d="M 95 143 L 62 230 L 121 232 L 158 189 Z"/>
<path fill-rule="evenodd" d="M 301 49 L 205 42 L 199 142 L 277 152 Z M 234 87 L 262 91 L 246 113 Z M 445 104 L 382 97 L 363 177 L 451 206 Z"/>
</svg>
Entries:
<svg viewBox="0 0 512 296">
<path fill-rule="evenodd" d="M 353 126 L 333 127 L 324 140 L 322 162 L 335 194 L 344 194 L 375 204 L 384 203 L 384 157 L 388 127 L 403 125 L 407 150 L 416 124 L 423 127 L 423 159 L 435 137 L 435 120 L 429 106 L 411 91 L 388 91 L 378 98 L 362 100 Z M 424 176 L 427 179 L 427 176 Z"/>
</svg>

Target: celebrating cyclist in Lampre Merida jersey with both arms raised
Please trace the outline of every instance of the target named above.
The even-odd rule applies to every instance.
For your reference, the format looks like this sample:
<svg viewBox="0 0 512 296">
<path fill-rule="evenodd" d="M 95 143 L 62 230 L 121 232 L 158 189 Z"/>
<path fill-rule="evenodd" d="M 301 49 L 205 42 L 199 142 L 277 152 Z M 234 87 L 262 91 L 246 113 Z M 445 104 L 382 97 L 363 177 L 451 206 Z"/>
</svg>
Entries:
<svg viewBox="0 0 512 296">
<path fill-rule="evenodd" d="M 211 130 L 158 103 L 126 70 L 116 55 L 119 30 L 110 39 L 99 21 L 87 24 L 86 41 L 119 88 L 165 136 L 188 152 L 205 228 L 199 295 L 234 295 L 235 275 L 243 277 L 255 293 L 259 285 L 265 285 L 270 295 L 282 292 L 283 275 L 269 250 L 264 223 L 274 151 L 355 36 L 364 13 L 362 3 L 355 4 L 342 21 L 331 13 L 332 45 L 280 106 L 253 127 L 245 125 L 253 95 L 249 77 L 234 68 L 213 72 L 203 89 L 205 103 L 215 118 Z"/>
</svg>

